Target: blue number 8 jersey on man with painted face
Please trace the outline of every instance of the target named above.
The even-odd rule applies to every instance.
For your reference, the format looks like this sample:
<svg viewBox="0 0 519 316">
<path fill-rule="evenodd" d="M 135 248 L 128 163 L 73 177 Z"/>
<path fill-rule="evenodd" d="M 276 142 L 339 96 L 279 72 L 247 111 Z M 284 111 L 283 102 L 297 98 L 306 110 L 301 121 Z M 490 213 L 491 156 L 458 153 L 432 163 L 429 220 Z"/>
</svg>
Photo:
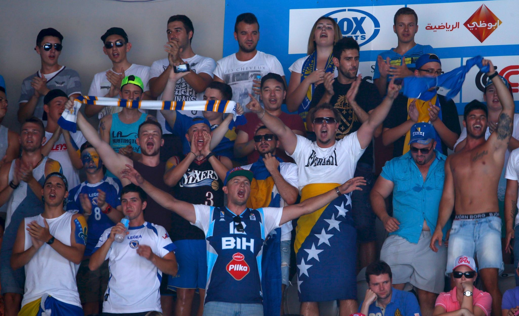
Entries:
<svg viewBox="0 0 519 316">
<path fill-rule="evenodd" d="M 92 215 L 88 217 L 88 239 L 87 247 L 85 249 L 85 256 L 90 256 L 93 253 L 95 245 L 97 245 L 101 234 L 108 228 L 112 228 L 114 223 L 106 214 L 101 212 L 98 205 L 98 189 L 106 193 L 106 203 L 113 208 L 121 205 L 121 198 L 119 190 L 122 188 L 121 182 L 117 178 L 104 177 L 98 183 L 88 183 L 87 181 L 81 183 L 79 186 L 70 190 L 69 201 L 66 204 L 66 210 L 72 213 L 83 214 L 83 207 L 79 200 L 79 194 L 87 194 L 92 203 Z M 118 212 L 112 210 L 112 212 Z"/>
</svg>

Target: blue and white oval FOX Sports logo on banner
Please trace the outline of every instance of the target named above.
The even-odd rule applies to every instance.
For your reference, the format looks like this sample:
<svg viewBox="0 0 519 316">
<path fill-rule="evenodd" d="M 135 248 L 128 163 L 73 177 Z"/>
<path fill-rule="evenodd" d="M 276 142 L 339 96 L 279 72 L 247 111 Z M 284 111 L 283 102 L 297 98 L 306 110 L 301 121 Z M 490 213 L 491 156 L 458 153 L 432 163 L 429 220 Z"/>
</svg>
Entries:
<svg viewBox="0 0 519 316">
<path fill-rule="evenodd" d="M 380 23 L 370 12 L 359 9 L 339 9 L 324 15 L 333 18 L 343 36 L 353 37 L 359 46 L 370 43 L 380 32 Z"/>
</svg>

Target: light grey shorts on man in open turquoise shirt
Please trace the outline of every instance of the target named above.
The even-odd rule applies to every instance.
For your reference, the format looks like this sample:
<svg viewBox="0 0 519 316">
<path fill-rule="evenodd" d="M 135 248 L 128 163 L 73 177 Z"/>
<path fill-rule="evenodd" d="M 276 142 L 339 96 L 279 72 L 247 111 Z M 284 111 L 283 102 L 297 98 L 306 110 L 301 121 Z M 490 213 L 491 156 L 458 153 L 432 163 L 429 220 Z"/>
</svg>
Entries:
<svg viewBox="0 0 519 316">
<path fill-rule="evenodd" d="M 417 244 L 399 235 L 389 235 L 380 251 L 393 273 L 393 284 L 410 283 L 432 293 L 443 292 L 447 248 L 438 246 L 435 253 L 429 247 L 431 232 L 422 231 Z"/>
</svg>

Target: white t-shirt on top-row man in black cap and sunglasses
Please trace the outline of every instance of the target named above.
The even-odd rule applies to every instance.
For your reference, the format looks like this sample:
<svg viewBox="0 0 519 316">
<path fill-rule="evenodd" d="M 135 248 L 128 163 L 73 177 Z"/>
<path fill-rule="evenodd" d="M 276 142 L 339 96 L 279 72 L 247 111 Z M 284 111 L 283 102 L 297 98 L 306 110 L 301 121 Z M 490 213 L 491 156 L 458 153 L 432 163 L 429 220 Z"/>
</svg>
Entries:
<svg viewBox="0 0 519 316">
<path fill-rule="evenodd" d="M 107 71 L 113 71 L 112 68 L 98 72 L 94 75 L 94 78 L 92 80 L 92 83 L 90 84 L 90 89 L 88 89 L 88 95 L 89 96 L 95 96 L 95 97 L 104 97 L 110 91 L 110 87 L 112 84 L 110 81 L 108 81 L 108 78 L 106 77 Z M 117 73 L 120 74 L 120 73 Z M 142 83 L 144 84 L 144 92 L 149 90 L 149 67 L 138 65 L 136 63 L 132 63 L 130 68 L 128 68 L 125 71 L 125 75 L 134 75 L 141 78 Z M 118 96 L 117 96 L 118 97 Z M 113 109 L 112 109 L 113 108 Z M 122 111 L 122 108 L 120 107 L 104 107 L 101 112 L 99 112 L 98 117 L 101 120 L 103 116 L 113 113 L 118 113 Z"/>
</svg>

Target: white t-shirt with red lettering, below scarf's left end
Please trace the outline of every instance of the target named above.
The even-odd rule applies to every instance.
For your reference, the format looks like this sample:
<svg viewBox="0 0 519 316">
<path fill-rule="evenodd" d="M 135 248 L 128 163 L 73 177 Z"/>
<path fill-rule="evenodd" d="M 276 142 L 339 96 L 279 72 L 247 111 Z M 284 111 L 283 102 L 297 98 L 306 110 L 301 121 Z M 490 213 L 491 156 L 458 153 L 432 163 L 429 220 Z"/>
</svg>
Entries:
<svg viewBox="0 0 519 316">
<path fill-rule="evenodd" d="M 76 131 L 76 133 L 71 132 L 70 136 L 72 140 L 76 143 L 78 152 L 77 155 L 79 156 L 79 148 L 81 148 L 81 145 L 85 143 L 87 139 L 79 130 Z M 45 137 L 47 137 L 47 141 L 49 141 L 49 139 L 52 137 L 52 133 L 45 131 Z M 50 159 L 56 160 L 61 164 L 61 168 L 63 169 L 63 175 L 66 177 L 67 182 L 69 182 L 69 190 L 79 185 L 79 170 L 72 166 L 69 152 L 67 152 L 66 149 L 66 143 L 63 134 L 61 134 L 58 141 L 54 143 L 54 146 L 50 150 L 48 157 Z"/>
</svg>

